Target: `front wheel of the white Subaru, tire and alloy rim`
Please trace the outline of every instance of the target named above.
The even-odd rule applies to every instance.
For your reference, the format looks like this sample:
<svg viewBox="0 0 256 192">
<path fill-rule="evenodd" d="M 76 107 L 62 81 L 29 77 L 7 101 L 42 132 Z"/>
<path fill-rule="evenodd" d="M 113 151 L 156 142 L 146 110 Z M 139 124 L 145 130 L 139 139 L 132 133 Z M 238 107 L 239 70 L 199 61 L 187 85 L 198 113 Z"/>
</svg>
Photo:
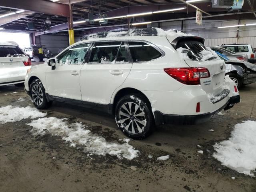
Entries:
<svg viewBox="0 0 256 192">
<path fill-rule="evenodd" d="M 47 101 L 44 86 L 39 79 L 35 79 L 32 81 L 29 90 L 30 97 L 36 108 L 46 109 L 52 105 L 52 101 Z"/>
</svg>

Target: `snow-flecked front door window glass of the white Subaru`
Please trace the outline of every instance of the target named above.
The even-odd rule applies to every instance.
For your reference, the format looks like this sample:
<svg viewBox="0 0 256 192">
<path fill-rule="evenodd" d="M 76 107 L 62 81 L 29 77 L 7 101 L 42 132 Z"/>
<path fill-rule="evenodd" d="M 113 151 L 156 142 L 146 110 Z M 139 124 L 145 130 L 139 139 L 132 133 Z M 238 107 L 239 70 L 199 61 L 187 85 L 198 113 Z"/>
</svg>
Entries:
<svg viewBox="0 0 256 192">
<path fill-rule="evenodd" d="M 80 65 L 84 64 L 86 53 L 90 43 L 76 45 L 58 58 L 59 65 Z"/>
</svg>

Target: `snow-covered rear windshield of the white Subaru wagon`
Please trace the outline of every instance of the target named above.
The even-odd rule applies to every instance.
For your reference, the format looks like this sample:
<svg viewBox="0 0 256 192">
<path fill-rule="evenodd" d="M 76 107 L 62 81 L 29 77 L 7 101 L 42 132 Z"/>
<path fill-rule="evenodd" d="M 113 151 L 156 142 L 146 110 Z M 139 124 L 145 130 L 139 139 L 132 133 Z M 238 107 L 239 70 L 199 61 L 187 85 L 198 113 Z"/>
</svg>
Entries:
<svg viewBox="0 0 256 192">
<path fill-rule="evenodd" d="M 216 53 L 210 48 L 206 48 L 199 41 L 182 41 L 177 45 L 177 51 L 182 58 L 187 60 L 207 61 L 218 59 Z"/>
</svg>

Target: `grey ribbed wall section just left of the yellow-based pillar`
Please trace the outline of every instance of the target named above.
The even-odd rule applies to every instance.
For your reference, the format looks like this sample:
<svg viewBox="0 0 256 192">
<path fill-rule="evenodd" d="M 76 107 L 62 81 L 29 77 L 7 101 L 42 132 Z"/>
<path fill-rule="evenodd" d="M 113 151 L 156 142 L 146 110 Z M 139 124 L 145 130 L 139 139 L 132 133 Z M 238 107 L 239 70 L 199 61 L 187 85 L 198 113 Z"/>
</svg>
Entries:
<svg viewBox="0 0 256 192">
<path fill-rule="evenodd" d="M 42 44 L 49 49 L 53 55 L 69 46 L 68 36 L 40 35 L 36 36 L 36 44 Z"/>
</svg>

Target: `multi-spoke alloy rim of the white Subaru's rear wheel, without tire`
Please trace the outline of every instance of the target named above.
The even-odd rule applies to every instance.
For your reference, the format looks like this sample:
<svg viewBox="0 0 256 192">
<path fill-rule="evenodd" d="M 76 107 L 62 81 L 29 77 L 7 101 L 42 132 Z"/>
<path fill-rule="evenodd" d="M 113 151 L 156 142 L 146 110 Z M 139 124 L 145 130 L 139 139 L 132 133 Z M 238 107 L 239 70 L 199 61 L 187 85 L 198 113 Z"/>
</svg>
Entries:
<svg viewBox="0 0 256 192">
<path fill-rule="evenodd" d="M 134 102 L 124 103 L 119 110 L 121 127 L 132 134 L 143 132 L 146 117 L 142 108 Z"/>
</svg>

